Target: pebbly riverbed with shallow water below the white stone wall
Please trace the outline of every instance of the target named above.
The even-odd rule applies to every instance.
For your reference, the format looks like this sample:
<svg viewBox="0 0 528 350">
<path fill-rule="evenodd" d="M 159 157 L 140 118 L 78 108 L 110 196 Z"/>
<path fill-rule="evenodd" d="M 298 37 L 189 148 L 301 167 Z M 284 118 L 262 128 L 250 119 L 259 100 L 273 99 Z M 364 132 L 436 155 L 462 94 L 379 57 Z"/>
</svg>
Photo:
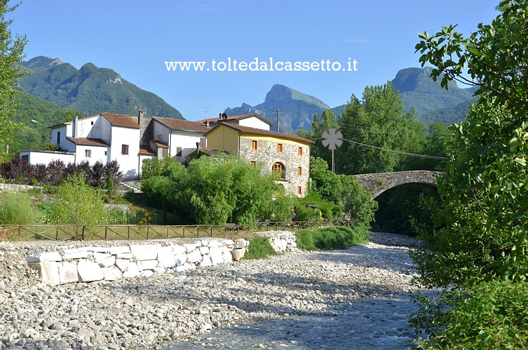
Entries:
<svg viewBox="0 0 528 350">
<path fill-rule="evenodd" d="M 348 250 L 56 287 L 34 282 L 27 243 L 1 243 L 0 349 L 339 349 L 339 336 L 405 349 L 413 243 L 375 233 Z"/>
</svg>

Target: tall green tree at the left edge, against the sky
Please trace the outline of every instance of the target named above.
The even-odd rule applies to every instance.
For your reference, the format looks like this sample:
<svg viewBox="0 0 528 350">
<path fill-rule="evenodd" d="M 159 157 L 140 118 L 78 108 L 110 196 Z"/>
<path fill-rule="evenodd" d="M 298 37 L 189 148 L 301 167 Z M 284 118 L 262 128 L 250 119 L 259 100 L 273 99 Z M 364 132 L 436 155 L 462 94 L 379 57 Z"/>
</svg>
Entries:
<svg viewBox="0 0 528 350">
<path fill-rule="evenodd" d="M 13 84 L 26 75 L 17 63 L 23 60 L 24 47 L 27 40 L 24 36 L 16 35 L 12 38 L 9 26 L 12 19 L 5 16 L 13 12 L 19 5 L 10 6 L 8 0 L 0 1 L 0 163 L 8 159 L 7 146 L 13 142 L 14 131 L 20 126 L 10 118 L 14 115 L 14 108 L 18 104 Z"/>
</svg>

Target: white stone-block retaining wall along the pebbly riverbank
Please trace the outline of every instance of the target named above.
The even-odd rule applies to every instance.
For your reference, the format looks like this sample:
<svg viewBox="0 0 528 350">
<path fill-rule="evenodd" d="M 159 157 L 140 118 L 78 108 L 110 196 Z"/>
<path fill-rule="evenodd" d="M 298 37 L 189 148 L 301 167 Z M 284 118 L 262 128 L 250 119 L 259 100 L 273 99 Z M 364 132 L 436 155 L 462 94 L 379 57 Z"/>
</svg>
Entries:
<svg viewBox="0 0 528 350">
<path fill-rule="evenodd" d="M 29 267 L 44 283 L 115 281 L 123 277 L 152 277 L 155 273 L 183 272 L 228 264 L 243 256 L 245 240 L 202 240 L 161 246 L 80 246 L 25 255 Z"/>
</svg>

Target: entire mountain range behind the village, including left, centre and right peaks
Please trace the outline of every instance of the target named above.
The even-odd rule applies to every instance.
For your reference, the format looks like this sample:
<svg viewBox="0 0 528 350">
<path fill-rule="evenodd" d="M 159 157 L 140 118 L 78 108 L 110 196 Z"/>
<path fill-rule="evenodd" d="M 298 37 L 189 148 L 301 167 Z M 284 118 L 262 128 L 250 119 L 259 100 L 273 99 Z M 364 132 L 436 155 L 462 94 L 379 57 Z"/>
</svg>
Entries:
<svg viewBox="0 0 528 350">
<path fill-rule="evenodd" d="M 32 75 L 21 78 L 17 83 L 21 106 L 17 109 L 15 121 L 25 124 L 16 148 L 42 146 L 49 133 L 42 125 L 58 124 L 72 118 L 73 113 L 95 115 L 101 112 L 136 114 L 137 108 L 146 110 L 147 115 L 184 119 L 181 113 L 154 93 L 140 89 L 124 80 L 116 71 L 98 68 L 86 63 L 80 69 L 59 58 L 38 56 L 21 62 Z M 461 89 L 451 82 L 449 90 L 440 86 L 440 80 L 430 78 L 431 68 L 401 69 L 392 80 L 394 89 L 399 91 L 405 110 L 416 110 L 417 119 L 424 124 L 440 121 L 446 125 L 461 121 L 468 113 L 468 106 L 475 97 L 471 89 Z M 280 131 L 296 132 L 308 129 L 313 115 L 322 114 L 331 108 L 336 115 L 346 104 L 331 108 L 317 97 L 301 93 L 288 86 L 275 84 L 266 94 L 264 102 L 251 106 L 243 103 L 239 107 L 227 108 L 228 115 L 259 113 L 276 124 L 276 111 L 280 110 Z M 69 114 L 67 108 L 71 108 Z M 75 114 L 73 114 L 75 115 Z M 40 125 L 33 123 L 34 119 Z M 38 137 L 40 136 L 40 138 Z M 32 139 L 35 144 L 32 145 Z"/>
</svg>

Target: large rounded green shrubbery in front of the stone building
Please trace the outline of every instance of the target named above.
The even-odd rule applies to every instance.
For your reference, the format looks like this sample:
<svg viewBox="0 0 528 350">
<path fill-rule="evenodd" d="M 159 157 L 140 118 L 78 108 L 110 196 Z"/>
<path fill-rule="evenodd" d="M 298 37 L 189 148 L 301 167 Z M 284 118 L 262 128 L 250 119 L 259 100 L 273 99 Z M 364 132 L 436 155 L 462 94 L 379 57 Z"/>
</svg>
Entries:
<svg viewBox="0 0 528 350">
<path fill-rule="evenodd" d="M 145 161 L 143 169 L 141 188 L 147 198 L 167 202 L 191 222 L 247 224 L 287 216 L 286 200 L 273 205 L 274 177 L 239 159 L 204 156 L 187 168 L 164 159 Z"/>
</svg>

